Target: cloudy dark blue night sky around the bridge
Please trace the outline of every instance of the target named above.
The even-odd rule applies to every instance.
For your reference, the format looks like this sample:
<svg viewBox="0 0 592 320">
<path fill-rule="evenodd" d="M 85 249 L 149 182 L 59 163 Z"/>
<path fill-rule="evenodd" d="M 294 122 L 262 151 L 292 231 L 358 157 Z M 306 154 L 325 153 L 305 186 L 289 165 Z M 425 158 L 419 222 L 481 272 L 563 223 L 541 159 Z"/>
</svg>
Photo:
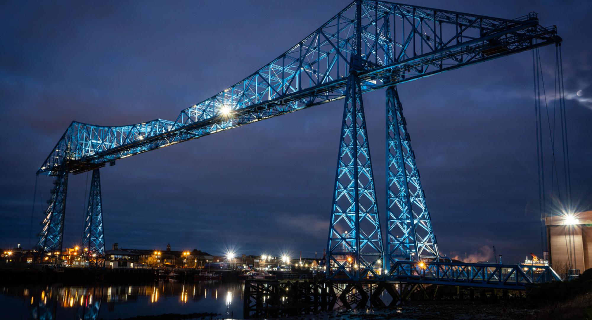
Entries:
<svg viewBox="0 0 592 320">
<path fill-rule="evenodd" d="M 180 110 L 265 65 L 348 3 L 3 1 L 0 247 L 36 243 L 29 237 L 35 172 L 70 121 L 111 126 L 175 120 Z M 414 4 L 501 18 L 535 11 L 543 26 L 558 26 L 573 196 L 578 208 L 590 210 L 592 2 Z M 555 47 L 543 47 L 541 56 L 552 95 Z M 532 53 L 420 79 L 398 91 L 440 252 L 493 261 L 495 245 L 507 262 L 540 254 Z M 363 96 L 381 219 L 384 94 Z M 106 247 L 118 242 L 120 248 L 164 249 L 170 242 L 173 250 L 211 254 L 236 248 L 322 255 L 342 114 L 343 100 L 101 169 Z M 549 168 L 546 173 L 549 181 Z M 33 235 L 51 178 L 38 181 Z M 81 238 L 89 183 L 90 174 L 70 175 L 65 246 Z"/>
</svg>

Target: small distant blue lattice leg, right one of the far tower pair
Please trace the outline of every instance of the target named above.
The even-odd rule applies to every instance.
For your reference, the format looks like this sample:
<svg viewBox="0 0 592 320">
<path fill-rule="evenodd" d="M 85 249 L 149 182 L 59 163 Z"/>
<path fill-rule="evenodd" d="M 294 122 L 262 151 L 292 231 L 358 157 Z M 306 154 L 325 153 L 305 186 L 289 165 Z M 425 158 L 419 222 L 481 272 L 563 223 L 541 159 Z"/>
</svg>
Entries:
<svg viewBox="0 0 592 320">
<path fill-rule="evenodd" d="M 103 206 L 99 169 L 92 171 L 91 194 L 88 197 L 82 245 L 91 267 L 105 266 L 105 238 L 103 234 Z"/>
</svg>

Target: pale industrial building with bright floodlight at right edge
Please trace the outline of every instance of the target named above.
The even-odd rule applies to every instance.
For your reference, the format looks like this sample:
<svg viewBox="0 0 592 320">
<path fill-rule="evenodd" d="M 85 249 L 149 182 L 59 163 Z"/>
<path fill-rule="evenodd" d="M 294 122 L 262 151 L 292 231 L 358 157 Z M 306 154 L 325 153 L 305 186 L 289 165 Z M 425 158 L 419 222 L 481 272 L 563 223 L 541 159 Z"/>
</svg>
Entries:
<svg viewBox="0 0 592 320">
<path fill-rule="evenodd" d="M 592 268 L 592 211 L 545 219 L 549 261 L 559 270 Z"/>
</svg>

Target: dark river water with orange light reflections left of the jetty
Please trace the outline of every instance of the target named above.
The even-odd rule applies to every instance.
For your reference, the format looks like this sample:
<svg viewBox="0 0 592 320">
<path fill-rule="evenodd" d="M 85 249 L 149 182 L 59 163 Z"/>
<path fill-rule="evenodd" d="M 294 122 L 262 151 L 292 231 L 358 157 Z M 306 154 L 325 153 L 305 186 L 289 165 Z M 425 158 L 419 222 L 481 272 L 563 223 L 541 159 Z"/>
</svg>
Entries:
<svg viewBox="0 0 592 320">
<path fill-rule="evenodd" d="M 2 319 L 118 319 L 164 313 L 218 313 L 243 318 L 243 281 L 146 285 L 63 286 L 0 284 Z"/>
</svg>

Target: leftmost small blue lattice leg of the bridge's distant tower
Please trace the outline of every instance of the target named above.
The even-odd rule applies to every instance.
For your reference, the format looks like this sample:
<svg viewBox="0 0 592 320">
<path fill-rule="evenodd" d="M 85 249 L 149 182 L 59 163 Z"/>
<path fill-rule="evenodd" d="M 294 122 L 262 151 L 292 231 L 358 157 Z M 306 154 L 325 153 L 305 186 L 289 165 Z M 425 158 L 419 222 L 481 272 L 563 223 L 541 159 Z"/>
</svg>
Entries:
<svg viewBox="0 0 592 320">
<path fill-rule="evenodd" d="M 39 242 L 37 247 L 40 254 L 55 254 L 56 252 L 60 254 L 62 252 L 67 185 L 68 171 L 66 164 L 62 164 L 53 180 L 53 187 L 50 190 L 52 196 L 47 200 L 49 206 L 47 206 L 46 216 L 41 222 L 41 232 L 38 234 Z M 44 255 L 39 258 L 43 259 Z"/>
</svg>

